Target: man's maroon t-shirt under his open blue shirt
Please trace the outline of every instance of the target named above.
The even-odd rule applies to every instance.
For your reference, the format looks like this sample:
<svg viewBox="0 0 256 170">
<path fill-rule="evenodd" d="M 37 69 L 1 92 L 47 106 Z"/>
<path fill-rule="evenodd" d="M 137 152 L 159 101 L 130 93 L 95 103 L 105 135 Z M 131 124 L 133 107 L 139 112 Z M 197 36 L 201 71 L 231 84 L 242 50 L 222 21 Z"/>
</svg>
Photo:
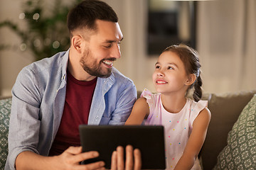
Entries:
<svg viewBox="0 0 256 170">
<path fill-rule="evenodd" d="M 97 78 L 79 81 L 67 72 L 67 89 L 63 116 L 50 149 L 50 156 L 61 154 L 70 146 L 80 146 L 78 126 L 86 124 Z"/>
</svg>

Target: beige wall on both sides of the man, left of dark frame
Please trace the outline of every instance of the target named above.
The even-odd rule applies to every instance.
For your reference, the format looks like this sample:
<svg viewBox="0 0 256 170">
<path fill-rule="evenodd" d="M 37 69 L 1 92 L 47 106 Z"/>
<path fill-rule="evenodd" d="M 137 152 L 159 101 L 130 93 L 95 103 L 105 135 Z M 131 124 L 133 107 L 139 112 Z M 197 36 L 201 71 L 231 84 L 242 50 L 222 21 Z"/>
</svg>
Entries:
<svg viewBox="0 0 256 170">
<path fill-rule="evenodd" d="M 25 0 L 23 0 L 25 1 Z M 134 80 L 137 89 L 143 89 L 144 82 L 149 81 L 146 73 L 149 71 L 144 70 L 148 65 L 154 66 L 156 58 L 148 58 L 145 55 L 144 30 L 146 29 L 146 1 L 137 0 L 105 0 L 119 16 L 119 25 L 124 34 L 124 40 L 121 45 L 122 58 L 114 63 L 127 77 Z M 65 0 L 64 3 L 70 3 Z M 50 4 L 50 0 L 45 2 L 46 5 Z M 1 16 L 0 21 L 11 19 L 22 26 L 26 26 L 22 20 L 18 18 L 21 10 L 22 1 L 20 0 L 0 0 Z M 11 12 L 10 12 L 11 11 Z M 139 16 L 139 17 L 138 17 Z M 14 49 L 0 51 L 0 95 L 10 96 L 11 88 L 14 85 L 18 72 L 26 65 L 33 62 L 33 56 L 29 52 L 20 52 L 18 36 L 7 28 L 0 29 L 1 42 L 6 44 L 15 44 Z M 154 62 L 151 62 L 151 61 Z M 154 67 L 150 67 L 150 72 Z"/>
</svg>

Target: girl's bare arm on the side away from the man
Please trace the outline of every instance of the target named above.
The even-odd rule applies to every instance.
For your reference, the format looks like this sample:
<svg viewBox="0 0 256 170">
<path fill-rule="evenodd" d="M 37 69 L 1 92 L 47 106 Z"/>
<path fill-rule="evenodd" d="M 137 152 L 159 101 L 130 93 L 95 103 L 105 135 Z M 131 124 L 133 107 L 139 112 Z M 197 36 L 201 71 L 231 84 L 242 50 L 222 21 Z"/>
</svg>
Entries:
<svg viewBox="0 0 256 170">
<path fill-rule="evenodd" d="M 192 168 L 196 161 L 196 157 L 198 157 L 201 147 L 203 146 L 203 142 L 206 139 L 206 132 L 209 123 L 210 111 L 208 108 L 204 108 L 193 122 L 193 130 L 188 139 L 188 143 L 174 170 Z"/>
</svg>

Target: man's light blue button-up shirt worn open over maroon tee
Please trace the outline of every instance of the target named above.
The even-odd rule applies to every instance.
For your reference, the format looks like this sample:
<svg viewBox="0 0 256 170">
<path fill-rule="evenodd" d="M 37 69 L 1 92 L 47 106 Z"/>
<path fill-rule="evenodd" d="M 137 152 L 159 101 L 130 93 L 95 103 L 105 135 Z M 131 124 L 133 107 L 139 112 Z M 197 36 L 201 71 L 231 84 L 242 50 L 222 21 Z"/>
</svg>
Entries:
<svg viewBox="0 0 256 170">
<path fill-rule="evenodd" d="M 68 55 L 69 50 L 59 52 L 24 67 L 18 74 L 12 89 L 5 169 L 15 169 L 16 157 L 24 151 L 48 156 L 63 114 Z M 132 80 L 112 68 L 110 77 L 97 78 L 88 124 L 123 125 L 136 98 Z"/>
</svg>

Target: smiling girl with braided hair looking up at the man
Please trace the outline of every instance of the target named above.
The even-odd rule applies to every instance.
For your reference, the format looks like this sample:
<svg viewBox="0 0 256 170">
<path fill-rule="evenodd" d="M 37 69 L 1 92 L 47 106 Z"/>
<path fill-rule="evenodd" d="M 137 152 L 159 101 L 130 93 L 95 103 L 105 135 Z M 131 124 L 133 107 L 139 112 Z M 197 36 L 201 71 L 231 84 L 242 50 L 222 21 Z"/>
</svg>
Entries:
<svg viewBox="0 0 256 170">
<path fill-rule="evenodd" d="M 202 96 L 198 52 L 186 45 L 167 47 L 155 64 L 157 94 L 144 90 L 126 125 L 164 125 L 166 169 L 201 169 L 198 153 L 206 138 L 210 111 Z M 194 88 L 193 99 L 186 98 Z M 144 120 L 145 119 L 145 120 Z"/>
</svg>

